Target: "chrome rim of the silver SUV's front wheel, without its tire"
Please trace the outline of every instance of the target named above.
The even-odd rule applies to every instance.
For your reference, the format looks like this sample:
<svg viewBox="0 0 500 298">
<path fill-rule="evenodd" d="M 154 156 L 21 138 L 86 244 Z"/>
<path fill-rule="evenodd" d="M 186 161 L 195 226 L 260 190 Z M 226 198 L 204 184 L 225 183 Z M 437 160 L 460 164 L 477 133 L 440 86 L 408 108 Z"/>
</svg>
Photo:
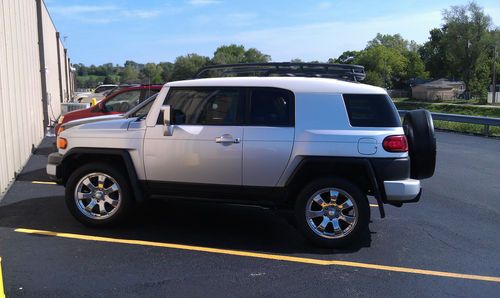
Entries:
<svg viewBox="0 0 500 298">
<path fill-rule="evenodd" d="M 78 210 L 91 219 L 107 219 L 121 204 L 120 185 L 104 173 L 90 173 L 78 181 L 75 188 L 75 203 Z"/>
</svg>

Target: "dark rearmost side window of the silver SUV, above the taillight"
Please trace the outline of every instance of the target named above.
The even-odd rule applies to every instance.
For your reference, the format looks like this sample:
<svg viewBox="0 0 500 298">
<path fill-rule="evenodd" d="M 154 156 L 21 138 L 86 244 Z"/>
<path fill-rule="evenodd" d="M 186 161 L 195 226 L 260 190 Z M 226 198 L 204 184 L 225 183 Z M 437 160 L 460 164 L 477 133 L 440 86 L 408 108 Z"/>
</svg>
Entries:
<svg viewBox="0 0 500 298">
<path fill-rule="evenodd" d="M 388 95 L 344 94 L 343 97 L 351 126 L 401 126 L 401 119 Z"/>
</svg>

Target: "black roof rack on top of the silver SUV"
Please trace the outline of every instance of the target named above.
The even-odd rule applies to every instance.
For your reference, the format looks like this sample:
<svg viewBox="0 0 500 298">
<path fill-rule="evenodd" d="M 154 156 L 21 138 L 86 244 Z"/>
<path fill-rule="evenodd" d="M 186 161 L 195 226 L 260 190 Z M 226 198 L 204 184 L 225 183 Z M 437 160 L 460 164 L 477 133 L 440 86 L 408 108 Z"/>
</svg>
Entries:
<svg viewBox="0 0 500 298">
<path fill-rule="evenodd" d="M 358 82 L 364 80 L 366 74 L 360 65 L 270 62 L 210 65 L 200 68 L 194 78 L 225 76 L 320 77 Z"/>
</svg>

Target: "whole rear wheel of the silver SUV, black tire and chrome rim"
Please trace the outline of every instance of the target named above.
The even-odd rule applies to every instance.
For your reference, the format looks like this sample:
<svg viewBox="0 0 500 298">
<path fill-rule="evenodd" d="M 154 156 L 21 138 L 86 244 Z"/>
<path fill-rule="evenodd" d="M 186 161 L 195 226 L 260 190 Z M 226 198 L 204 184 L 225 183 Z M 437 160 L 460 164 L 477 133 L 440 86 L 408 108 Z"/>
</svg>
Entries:
<svg viewBox="0 0 500 298">
<path fill-rule="evenodd" d="M 356 185 L 344 179 L 322 178 L 300 192 L 295 219 L 304 236 L 315 245 L 340 248 L 366 232 L 370 207 Z"/>
</svg>

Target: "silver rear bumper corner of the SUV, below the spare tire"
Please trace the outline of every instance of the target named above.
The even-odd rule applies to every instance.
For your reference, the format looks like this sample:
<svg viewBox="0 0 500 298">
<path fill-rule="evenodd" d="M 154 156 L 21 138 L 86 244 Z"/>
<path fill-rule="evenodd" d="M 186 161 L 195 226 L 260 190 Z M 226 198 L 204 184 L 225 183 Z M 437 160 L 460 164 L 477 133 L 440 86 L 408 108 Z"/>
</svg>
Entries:
<svg viewBox="0 0 500 298">
<path fill-rule="evenodd" d="M 384 189 L 388 203 L 415 203 L 422 194 L 420 180 L 414 179 L 384 181 Z"/>
</svg>

